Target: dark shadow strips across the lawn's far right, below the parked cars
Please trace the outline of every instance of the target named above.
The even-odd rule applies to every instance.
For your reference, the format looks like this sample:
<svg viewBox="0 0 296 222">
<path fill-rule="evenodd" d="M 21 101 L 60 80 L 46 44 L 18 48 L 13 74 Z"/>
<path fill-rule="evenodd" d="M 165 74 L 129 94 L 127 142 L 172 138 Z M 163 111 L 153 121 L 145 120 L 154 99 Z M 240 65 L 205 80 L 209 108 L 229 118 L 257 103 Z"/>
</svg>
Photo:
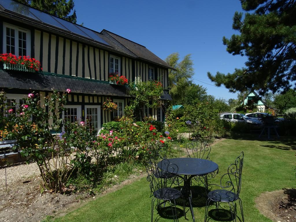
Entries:
<svg viewBox="0 0 296 222">
<path fill-rule="evenodd" d="M 276 137 L 271 137 L 271 139 L 266 140 L 267 138 L 258 138 L 259 134 L 248 133 L 248 134 L 234 134 L 227 138 L 234 140 L 247 140 L 247 141 L 266 141 L 268 144 L 260 145 L 267 148 L 275 148 L 281 150 L 296 150 L 296 140 L 293 136 L 281 136 L 279 139 Z"/>
</svg>

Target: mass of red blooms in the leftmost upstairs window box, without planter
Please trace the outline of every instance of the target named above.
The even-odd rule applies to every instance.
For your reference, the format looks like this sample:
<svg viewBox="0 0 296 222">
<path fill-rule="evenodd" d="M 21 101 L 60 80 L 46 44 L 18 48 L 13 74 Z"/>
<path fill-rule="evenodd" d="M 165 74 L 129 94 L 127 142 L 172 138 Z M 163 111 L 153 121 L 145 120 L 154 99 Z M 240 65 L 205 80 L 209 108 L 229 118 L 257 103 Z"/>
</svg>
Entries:
<svg viewBox="0 0 296 222">
<path fill-rule="evenodd" d="M 29 69 L 34 69 L 35 71 L 42 70 L 41 64 L 38 60 L 30 58 L 29 56 L 15 56 L 11 53 L 0 54 L 0 62 L 13 65 L 24 65 Z"/>
</svg>

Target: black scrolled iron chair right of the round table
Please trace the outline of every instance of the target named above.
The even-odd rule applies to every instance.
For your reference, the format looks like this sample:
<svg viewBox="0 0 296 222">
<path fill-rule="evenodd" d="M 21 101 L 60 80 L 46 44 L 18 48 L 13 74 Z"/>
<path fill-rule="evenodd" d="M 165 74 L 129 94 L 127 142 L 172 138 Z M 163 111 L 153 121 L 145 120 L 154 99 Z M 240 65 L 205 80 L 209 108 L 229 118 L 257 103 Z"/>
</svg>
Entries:
<svg viewBox="0 0 296 222">
<path fill-rule="evenodd" d="M 210 201 L 214 201 L 216 204 L 216 210 L 219 209 L 220 203 L 228 203 L 232 221 L 236 221 L 237 204 L 239 201 L 239 208 L 242 213 L 242 221 L 244 222 L 244 213 L 242 209 L 242 200 L 239 198 L 239 193 L 242 186 L 242 165 L 244 160 L 244 152 L 235 159 L 235 162 L 229 165 L 227 173 L 225 173 L 220 179 L 220 185 L 209 184 L 220 187 L 220 189 L 212 190 L 207 194 L 207 204 L 205 209 L 205 222 L 207 220 L 207 212 Z M 225 184 L 225 186 L 223 185 Z M 231 206 L 232 205 L 232 206 Z"/>
</svg>

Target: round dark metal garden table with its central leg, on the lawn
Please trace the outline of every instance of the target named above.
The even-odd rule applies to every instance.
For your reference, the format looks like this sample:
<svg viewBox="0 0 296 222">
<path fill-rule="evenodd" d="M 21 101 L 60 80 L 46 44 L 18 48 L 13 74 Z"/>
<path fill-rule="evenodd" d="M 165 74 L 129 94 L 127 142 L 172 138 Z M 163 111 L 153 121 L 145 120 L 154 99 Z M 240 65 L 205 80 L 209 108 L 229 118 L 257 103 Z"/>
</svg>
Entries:
<svg viewBox="0 0 296 222">
<path fill-rule="evenodd" d="M 198 158 L 173 158 L 168 159 L 169 163 L 176 164 L 178 166 L 178 175 L 184 179 L 184 187 L 181 189 L 181 195 L 183 198 L 188 198 L 189 200 L 189 207 L 192 215 L 193 222 L 194 213 L 192 208 L 192 200 L 191 200 L 191 178 L 194 176 L 205 176 L 209 173 L 213 173 L 218 170 L 218 164 L 204 159 Z M 162 168 L 161 162 L 157 164 L 159 168 Z M 162 170 L 165 170 L 166 166 L 163 166 Z M 207 187 L 207 179 L 205 180 L 205 186 Z"/>
</svg>

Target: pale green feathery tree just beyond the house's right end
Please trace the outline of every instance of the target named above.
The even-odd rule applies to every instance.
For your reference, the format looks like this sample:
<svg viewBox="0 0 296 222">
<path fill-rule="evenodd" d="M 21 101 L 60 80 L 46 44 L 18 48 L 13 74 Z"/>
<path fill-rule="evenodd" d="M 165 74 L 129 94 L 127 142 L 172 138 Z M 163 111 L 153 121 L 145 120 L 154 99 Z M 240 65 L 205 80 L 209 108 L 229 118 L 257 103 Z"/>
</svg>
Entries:
<svg viewBox="0 0 296 222">
<path fill-rule="evenodd" d="M 173 103 L 177 104 L 184 97 L 186 90 L 191 84 L 191 78 L 194 75 L 193 61 L 191 54 L 186 55 L 183 60 L 180 60 L 179 53 L 170 54 L 166 59 L 170 66 L 175 70 L 169 70 L 168 80 L 170 94 L 173 98 Z"/>
</svg>

